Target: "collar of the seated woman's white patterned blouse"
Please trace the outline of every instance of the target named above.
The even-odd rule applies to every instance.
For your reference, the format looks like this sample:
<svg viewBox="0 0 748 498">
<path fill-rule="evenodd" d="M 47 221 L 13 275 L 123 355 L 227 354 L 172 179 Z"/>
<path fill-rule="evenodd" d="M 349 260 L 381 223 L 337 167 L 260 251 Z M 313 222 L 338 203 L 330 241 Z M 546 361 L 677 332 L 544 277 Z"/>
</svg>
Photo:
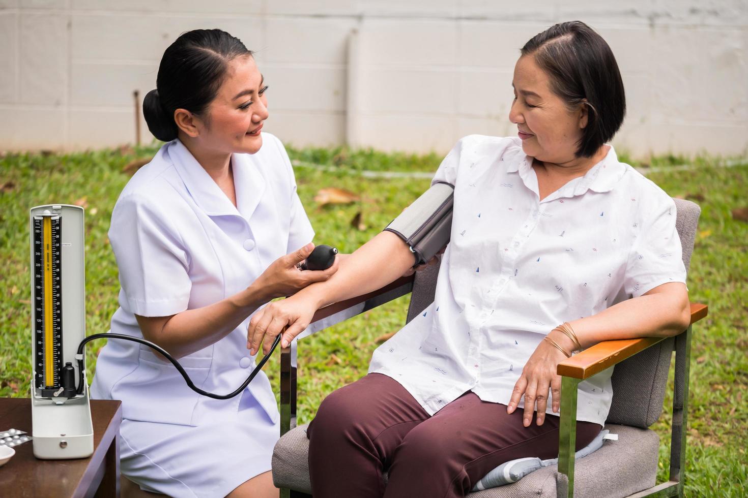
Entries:
<svg viewBox="0 0 748 498">
<path fill-rule="evenodd" d="M 580 196 L 587 190 L 592 190 L 597 193 L 610 192 L 613 187 L 619 182 L 625 172 L 628 169 L 627 164 L 623 164 L 618 161 L 618 155 L 616 155 L 615 149 L 610 144 L 608 152 L 604 158 L 595 166 L 589 169 L 583 176 L 574 178 L 568 181 L 563 187 L 560 188 L 560 194 L 565 197 Z M 521 146 L 518 148 L 518 152 L 512 151 L 515 157 L 509 158 L 509 169 L 508 172 L 518 172 L 525 184 L 530 186 L 531 184 L 537 185 L 537 178 L 535 175 L 530 175 L 533 171 L 532 164 L 533 158 L 525 155 L 522 152 Z"/>
</svg>

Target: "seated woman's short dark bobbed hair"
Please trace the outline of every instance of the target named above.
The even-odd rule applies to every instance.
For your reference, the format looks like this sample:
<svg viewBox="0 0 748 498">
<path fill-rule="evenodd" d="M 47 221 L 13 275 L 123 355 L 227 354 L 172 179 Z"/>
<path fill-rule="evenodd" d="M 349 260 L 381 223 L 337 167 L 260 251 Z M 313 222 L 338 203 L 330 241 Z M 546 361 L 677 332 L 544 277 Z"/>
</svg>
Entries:
<svg viewBox="0 0 748 498">
<path fill-rule="evenodd" d="M 626 96 L 610 46 L 581 21 L 560 22 L 536 34 L 521 54 L 533 55 L 551 78 L 551 90 L 569 108 L 586 105 L 587 125 L 577 158 L 591 158 L 621 128 Z"/>
</svg>

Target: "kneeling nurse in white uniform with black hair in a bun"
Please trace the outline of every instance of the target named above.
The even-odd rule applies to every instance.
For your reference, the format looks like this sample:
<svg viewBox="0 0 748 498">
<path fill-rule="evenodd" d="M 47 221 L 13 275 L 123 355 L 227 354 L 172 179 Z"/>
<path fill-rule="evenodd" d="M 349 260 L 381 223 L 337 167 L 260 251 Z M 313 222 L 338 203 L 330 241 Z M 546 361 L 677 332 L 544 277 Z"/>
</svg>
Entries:
<svg viewBox="0 0 748 498">
<path fill-rule="evenodd" d="M 327 280 L 337 262 L 296 267 L 314 231 L 283 145 L 263 133 L 268 87 L 239 39 L 182 34 L 164 52 L 156 87 L 144 116 L 167 143 L 112 212 L 121 290 L 111 332 L 159 344 L 195 385 L 229 393 L 255 364 L 251 314 Z M 233 399 L 210 399 L 147 346 L 110 340 L 91 393 L 123 402 L 124 495 L 278 497 L 269 473 L 278 408 L 264 373 Z"/>
</svg>

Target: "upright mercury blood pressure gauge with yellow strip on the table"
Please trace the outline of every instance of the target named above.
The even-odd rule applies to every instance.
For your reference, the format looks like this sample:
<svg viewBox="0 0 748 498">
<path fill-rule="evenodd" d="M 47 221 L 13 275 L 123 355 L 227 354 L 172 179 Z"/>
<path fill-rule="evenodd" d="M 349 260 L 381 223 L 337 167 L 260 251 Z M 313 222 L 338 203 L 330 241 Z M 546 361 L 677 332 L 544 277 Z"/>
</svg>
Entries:
<svg viewBox="0 0 748 498">
<path fill-rule="evenodd" d="M 29 228 L 34 456 L 85 458 L 93 453 L 93 424 L 85 359 L 77 355 L 85 338 L 83 208 L 31 208 Z"/>
</svg>

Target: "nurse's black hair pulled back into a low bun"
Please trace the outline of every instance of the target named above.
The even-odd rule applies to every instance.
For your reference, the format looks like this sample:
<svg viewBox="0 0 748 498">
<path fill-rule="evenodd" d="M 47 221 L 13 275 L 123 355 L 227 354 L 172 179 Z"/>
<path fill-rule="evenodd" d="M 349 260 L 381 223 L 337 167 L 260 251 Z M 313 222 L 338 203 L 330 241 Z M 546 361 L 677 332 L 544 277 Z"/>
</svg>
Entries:
<svg viewBox="0 0 748 498">
<path fill-rule="evenodd" d="M 156 90 L 143 99 L 143 116 L 154 137 L 177 138 L 174 111 L 200 114 L 215 99 L 228 63 L 252 55 L 239 38 L 220 29 L 196 29 L 180 35 L 161 57 Z"/>
</svg>

